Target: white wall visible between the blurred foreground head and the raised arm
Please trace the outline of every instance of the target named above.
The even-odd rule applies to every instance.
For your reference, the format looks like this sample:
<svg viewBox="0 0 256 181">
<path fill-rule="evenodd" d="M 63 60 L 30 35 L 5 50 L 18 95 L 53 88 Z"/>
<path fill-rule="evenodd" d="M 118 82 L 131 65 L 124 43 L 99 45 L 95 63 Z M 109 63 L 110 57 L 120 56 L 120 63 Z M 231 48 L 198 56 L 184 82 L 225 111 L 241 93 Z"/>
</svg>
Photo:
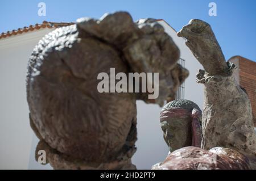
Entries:
<svg viewBox="0 0 256 181">
<path fill-rule="evenodd" d="M 196 83 L 197 71 L 202 69 L 202 66 L 185 45 L 185 40 L 182 37 L 177 37 L 176 31 L 163 20 L 159 23 L 179 47 L 180 58 L 185 60 L 185 68 L 189 70 L 189 77 L 185 81 L 184 98 L 192 100 L 202 109 L 204 87 Z M 133 157 L 133 163 L 137 169 L 150 169 L 155 163 L 163 161 L 168 154 L 168 147 L 163 140 L 163 133 L 160 128 L 160 110 L 158 105 L 137 101 L 138 141 L 136 146 L 138 150 Z"/>
</svg>

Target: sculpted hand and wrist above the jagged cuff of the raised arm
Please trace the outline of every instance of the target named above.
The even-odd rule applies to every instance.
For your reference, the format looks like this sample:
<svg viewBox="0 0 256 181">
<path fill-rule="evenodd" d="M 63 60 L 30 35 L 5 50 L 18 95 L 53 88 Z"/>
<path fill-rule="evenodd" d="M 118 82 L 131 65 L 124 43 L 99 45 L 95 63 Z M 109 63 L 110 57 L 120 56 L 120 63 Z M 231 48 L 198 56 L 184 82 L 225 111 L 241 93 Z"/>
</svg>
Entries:
<svg viewBox="0 0 256 181">
<path fill-rule="evenodd" d="M 226 75 L 228 66 L 220 45 L 210 25 L 203 20 L 192 19 L 177 32 L 187 39 L 186 45 L 210 75 Z"/>
</svg>

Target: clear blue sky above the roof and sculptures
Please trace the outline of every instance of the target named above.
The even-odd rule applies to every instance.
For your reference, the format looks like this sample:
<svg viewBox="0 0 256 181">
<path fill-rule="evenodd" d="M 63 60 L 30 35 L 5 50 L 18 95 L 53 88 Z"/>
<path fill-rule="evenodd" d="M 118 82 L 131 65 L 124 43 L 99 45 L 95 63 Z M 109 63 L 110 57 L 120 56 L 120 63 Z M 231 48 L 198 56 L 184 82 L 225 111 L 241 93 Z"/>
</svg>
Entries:
<svg viewBox="0 0 256 181">
<path fill-rule="evenodd" d="M 46 3 L 46 16 L 38 16 L 38 3 Z M 217 5 L 217 16 L 209 16 L 210 2 Z M 82 16 L 100 18 L 105 12 L 128 11 L 134 20 L 164 19 L 180 30 L 190 19 L 208 22 L 226 59 L 241 55 L 256 61 L 255 0 L 24 0 L 5 1 L 0 5 L 0 32 L 42 23 L 74 22 Z"/>
</svg>

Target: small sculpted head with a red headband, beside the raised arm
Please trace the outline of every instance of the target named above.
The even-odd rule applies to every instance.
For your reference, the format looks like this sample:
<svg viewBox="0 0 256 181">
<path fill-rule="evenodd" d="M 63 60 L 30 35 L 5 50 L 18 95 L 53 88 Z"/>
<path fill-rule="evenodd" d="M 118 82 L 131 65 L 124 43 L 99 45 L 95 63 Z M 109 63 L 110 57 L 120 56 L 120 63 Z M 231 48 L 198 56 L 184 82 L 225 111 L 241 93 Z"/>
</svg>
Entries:
<svg viewBox="0 0 256 181">
<path fill-rule="evenodd" d="M 190 100 L 174 100 L 163 107 L 160 123 L 170 151 L 201 141 L 200 120 L 201 110 Z"/>
</svg>

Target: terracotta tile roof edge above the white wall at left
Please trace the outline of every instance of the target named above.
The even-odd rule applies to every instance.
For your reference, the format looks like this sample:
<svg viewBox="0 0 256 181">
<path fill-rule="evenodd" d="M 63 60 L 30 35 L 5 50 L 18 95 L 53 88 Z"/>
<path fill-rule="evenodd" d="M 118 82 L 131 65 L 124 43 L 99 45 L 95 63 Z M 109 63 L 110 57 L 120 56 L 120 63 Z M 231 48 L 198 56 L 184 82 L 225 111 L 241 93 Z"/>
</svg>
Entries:
<svg viewBox="0 0 256 181">
<path fill-rule="evenodd" d="M 24 32 L 28 32 L 28 31 L 40 30 L 42 28 L 59 28 L 59 27 L 69 26 L 71 24 L 74 24 L 74 23 L 62 23 L 62 22 L 56 23 L 56 22 L 43 21 L 42 24 L 30 25 L 29 27 L 18 28 L 17 30 L 7 31 L 5 33 L 3 32 L 0 34 L 0 39 L 18 35 L 18 34 L 22 34 Z"/>
</svg>

